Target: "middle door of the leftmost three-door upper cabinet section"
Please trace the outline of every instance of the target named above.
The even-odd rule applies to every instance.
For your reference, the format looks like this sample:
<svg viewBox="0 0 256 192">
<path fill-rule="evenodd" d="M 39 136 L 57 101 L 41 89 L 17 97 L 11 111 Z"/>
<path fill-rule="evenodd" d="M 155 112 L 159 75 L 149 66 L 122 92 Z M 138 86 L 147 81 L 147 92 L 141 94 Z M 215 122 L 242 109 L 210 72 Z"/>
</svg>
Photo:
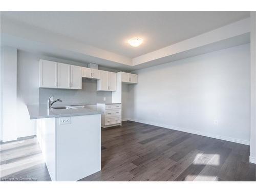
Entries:
<svg viewBox="0 0 256 192">
<path fill-rule="evenodd" d="M 70 65 L 58 63 L 58 88 L 70 89 Z"/>
</svg>

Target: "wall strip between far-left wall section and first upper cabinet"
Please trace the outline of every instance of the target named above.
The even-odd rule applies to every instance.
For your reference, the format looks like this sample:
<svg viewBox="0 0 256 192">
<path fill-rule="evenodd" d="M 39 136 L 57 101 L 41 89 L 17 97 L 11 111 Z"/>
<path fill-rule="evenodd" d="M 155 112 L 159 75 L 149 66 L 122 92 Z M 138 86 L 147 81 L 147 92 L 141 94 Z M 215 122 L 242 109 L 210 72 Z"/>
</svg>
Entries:
<svg viewBox="0 0 256 192">
<path fill-rule="evenodd" d="M 27 52 L 17 54 L 18 137 L 36 134 L 36 121 L 30 120 L 27 104 L 38 104 L 38 57 Z"/>
</svg>

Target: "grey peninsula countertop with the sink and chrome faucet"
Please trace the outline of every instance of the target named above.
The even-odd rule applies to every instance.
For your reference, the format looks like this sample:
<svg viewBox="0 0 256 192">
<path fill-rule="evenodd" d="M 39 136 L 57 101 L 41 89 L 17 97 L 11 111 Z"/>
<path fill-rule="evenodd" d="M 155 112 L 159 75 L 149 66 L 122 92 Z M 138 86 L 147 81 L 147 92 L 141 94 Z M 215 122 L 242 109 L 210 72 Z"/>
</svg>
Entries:
<svg viewBox="0 0 256 192">
<path fill-rule="evenodd" d="M 100 111 L 95 111 L 87 108 L 78 109 L 47 109 L 46 104 L 28 104 L 27 105 L 30 119 L 42 119 L 42 118 L 53 118 L 53 117 L 70 117 L 80 115 L 94 115 L 101 114 Z"/>
</svg>

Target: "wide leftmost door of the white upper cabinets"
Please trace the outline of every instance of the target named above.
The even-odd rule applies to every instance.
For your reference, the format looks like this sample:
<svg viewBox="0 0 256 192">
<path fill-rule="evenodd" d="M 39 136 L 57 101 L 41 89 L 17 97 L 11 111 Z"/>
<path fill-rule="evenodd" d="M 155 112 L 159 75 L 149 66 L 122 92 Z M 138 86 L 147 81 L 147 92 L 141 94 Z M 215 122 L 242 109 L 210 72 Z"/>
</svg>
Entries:
<svg viewBox="0 0 256 192">
<path fill-rule="evenodd" d="M 57 88 L 57 62 L 40 60 L 39 65 L 39 87 Z"/>
</svg>

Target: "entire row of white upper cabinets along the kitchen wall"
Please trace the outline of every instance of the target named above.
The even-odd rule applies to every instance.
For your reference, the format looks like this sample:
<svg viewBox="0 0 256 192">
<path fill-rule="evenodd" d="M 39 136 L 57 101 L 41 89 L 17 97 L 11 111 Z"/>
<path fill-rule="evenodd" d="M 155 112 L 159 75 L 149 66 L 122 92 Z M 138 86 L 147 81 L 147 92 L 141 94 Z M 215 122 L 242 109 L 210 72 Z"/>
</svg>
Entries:
<svg viewBox="0 0 256 192">
<path fill-rule="evenodd" d="M 82 89 L 82 77 L 97 79 L 97 91 L 116 91 L 116 73 L 66 63 L 40 60 L 39 87 L 59 89 Z M 119 72 L 122 82 L 137 83 L 135 74 Z M 120 77 L 120 75 L 119 75 Z M 121 83 L 121 78 L 119 81 Z"/>
</svg>

